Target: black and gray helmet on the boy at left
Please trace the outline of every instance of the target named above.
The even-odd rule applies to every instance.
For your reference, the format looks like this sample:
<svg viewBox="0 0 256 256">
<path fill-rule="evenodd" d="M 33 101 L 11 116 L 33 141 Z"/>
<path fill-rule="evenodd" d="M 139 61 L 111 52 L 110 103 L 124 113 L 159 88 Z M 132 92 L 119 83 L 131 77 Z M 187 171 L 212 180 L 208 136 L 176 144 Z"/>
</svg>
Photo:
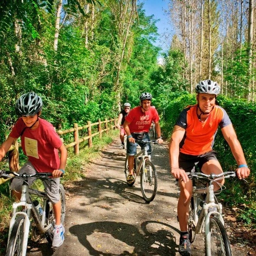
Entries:
<svg viewBox="0 0 256 256">
<path fill-rule="evenodd" d="M 16 100 L 15 110 L 19 116 L 34 116 L 42 110 L 42 99 L 34 92 L 25 93 Z"/>
</svg>

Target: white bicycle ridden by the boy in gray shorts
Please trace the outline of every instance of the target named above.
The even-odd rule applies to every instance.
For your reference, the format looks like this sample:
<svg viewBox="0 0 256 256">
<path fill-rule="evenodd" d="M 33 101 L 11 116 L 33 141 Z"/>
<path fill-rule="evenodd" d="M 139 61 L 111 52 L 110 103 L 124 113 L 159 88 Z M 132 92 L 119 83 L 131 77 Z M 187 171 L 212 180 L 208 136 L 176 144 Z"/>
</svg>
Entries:
<svg viewBox="0 0 256 256">
<path fill-rule="evenodd" d="M 27 244 L 30 230 L 30 219 L 34 220 L 34 236 L 37 232 L 40 237 L 46 237 L 47 241 L 52 244 L 53 228 L 55 217 L 52 203 L 46 197 L 45 191 L 33 189 L 28 185 L 29 178 L 50 179 L 51 173 L 36 173 L 36 174 L 18 174 L 16 172 L 0 170 L 0 178 L 16 178 L 23 179 L 22 197 L 20 202 L 12 204 L 12 218 L 9 226 L 8 242 L 6 256 L 20 255 L 25 256 L 27 251 Z M 66 200 L 65 190 L 59 184 L 59 194 L 61 201 L 61 223 L 65 220 Z M 41 205 L 41 207 L 40 207 Z M 17 207 L 22 206 L 23 209 L 17 210 Z M 33 236 L 33 235 L 32 235 Z"/>
</svg>

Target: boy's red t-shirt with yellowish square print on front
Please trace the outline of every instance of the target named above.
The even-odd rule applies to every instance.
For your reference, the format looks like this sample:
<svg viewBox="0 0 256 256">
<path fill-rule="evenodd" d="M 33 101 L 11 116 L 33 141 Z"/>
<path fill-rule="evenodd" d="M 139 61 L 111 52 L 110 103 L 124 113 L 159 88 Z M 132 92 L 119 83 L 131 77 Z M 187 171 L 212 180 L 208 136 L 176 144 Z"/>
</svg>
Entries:
<svg viewBox="0 0 256 256">
<path fill-rule="evenodd" d="M 19 118 L 10 137 L 17 139 L 25 129 L 21 137 L 24 154 L 37 172 L 51 173 L 59 168 L 58 148 L 62 145 L 62 141 L 51 123 L 41 118 L 38 122 L 39 126 L 35 130 L 30 130 L 22 118 Z"/>
</svg>

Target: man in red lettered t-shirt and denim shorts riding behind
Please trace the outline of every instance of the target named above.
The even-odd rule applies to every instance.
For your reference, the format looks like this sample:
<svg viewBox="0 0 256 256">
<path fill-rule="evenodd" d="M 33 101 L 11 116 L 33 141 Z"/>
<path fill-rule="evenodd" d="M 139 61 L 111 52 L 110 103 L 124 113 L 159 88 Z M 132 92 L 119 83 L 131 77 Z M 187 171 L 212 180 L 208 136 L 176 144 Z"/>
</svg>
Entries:
<svg viewBox="0 0 256 256">
<path fill-rule="evenodd" d="M 151 106 L 152 95 L 150 93 L 142 93 L 140 95 L 140 106 L 132 109 L 126 116 L 123 123 L 124 131 L 127 135 L 127 151 L 128 165 L 130 175 L 127 182 L 133 182 L 134 155 L 136 154 L 136 139 L 150 141 L 148 132 L 152 121 L 155 123 L 158 143 L 162 143 L 161 128 L 159 124 L 159 115 L 157 110 Z M 138 143 L 139 144 L 139 143 Z M 147 145 L 147 152 L 151 154 L 151 145 Z"/>
</svg>

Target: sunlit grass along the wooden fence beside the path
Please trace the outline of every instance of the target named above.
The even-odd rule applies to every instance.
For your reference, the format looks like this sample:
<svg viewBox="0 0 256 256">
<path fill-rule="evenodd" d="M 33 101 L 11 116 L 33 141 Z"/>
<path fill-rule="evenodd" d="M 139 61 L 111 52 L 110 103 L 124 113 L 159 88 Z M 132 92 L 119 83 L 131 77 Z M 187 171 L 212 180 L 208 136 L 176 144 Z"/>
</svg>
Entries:
<svg viewBox="0 0 256 256">
<path fill-rule="evenodd" d="M 100 158 L 101 151 L 110 144 L 119 134 L 119 130 L 110 131 L 102 138 L 93 138 L 93 147 L 89 148 L 87 143 L 79 144 L 79 155 L 74 155 L 72 148 L 68 150 L 68 159 L 65 176 L 61 179 L 62 184 L 70 184 L 73 181 L 86 177 L 89 164 Z M 25 159 L 23 160 L 25 162 Z M 22 165 L 22 163 L 20 163 Z M 8 162 L 1 162 L 0 169 L 9 169 Z M 0 185 L 0 255 L 5 254 L 8 239 L 8 228 L 11 219 L 13 198 L 10 193 L 10 181 Z"/>
</svg>

